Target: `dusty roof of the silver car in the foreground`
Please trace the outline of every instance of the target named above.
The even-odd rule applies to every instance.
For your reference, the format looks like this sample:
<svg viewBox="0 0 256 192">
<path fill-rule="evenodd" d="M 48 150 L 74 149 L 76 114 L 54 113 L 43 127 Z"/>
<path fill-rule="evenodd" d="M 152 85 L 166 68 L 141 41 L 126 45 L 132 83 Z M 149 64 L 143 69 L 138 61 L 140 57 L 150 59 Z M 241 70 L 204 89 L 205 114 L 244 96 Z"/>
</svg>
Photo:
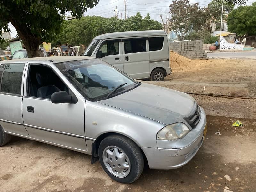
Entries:
<svg viewBox="0 0 256 192">
<path fill-rule="evenodd" d="M 0 61 L 0 64 L 5 63 L 19 63 L 19 62 L 48 62 L 48 63 L 62 63 L 68 61 L 76 61 L 76 60 L 86 60 L 86 59 L 95 59 L 95 57 L 87 57 L 87 56 L 55 56 L 55 57 L 32 57 L 32 58 L 24 58 L 24 59 L 12 59 L 12 60 L 4 60 Z"/>
</svg>

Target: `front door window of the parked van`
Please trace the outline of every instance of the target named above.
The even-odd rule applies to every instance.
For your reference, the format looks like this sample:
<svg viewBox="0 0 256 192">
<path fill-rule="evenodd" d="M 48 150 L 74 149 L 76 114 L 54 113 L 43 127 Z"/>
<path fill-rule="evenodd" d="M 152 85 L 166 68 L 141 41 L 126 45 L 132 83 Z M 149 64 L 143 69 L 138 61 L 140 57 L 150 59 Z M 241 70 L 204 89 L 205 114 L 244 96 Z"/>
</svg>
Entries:
<svg viewBox="0 0 256 192">
<path fill-rule="evenodd" d="M 102 58 L 108 55 L 119 55 L 119 41 L 118 40 L 109 40 L 104 41 L 100 45 L 100 49 L 98 50 L 96 57 Z"/>
</svg>

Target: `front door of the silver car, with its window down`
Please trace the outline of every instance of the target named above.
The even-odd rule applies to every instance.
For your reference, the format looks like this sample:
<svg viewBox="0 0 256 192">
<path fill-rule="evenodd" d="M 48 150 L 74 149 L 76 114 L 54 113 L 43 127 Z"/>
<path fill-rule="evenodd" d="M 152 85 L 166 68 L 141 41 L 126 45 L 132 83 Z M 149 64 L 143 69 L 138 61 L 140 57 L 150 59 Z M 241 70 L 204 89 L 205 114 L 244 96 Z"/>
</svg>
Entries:
<svg viewBox="0 0 256 192">
<path fill-rule="evenodd" d="M 54 65 L 28 63 L 26 76 L 22 113 L 29 136 L 60 147 L 86 151 L 85 99 Z M 77 103 L 52 103 L 51 93 L 57 91 L 76 96 Z"/>
</svg>

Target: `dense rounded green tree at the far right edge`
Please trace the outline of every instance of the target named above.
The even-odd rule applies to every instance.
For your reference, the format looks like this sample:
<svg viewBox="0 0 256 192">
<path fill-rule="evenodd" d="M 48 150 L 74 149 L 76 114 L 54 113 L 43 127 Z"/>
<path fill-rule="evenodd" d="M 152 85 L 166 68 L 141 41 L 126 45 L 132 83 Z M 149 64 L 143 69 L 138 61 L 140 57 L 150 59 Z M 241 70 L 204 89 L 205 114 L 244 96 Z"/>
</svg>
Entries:
<svg viewBox="0 0 256 192">
<path fill-rule="evenodd" d="M 256 2 L 251 6 L 240 6 L 231 11 L 227 18 L 228 31 L 244 38 L 256 36 Z"/>
</svg>

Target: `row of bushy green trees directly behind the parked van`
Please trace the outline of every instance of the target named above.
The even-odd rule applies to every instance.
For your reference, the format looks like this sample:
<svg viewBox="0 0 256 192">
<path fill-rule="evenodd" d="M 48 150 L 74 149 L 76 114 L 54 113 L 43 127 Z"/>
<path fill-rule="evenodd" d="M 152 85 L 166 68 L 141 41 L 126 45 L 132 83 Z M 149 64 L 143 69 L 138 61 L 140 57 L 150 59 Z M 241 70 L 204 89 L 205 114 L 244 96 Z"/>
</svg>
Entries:
<svg viewBox="0 0 256 192">
<path fill-rule="evenodd" d="M 55 36 L 52 42 L 54 42 L 53 44 L 69 43 L 73 46 L 88 45 L 95 36 L 103 33 L 161 29 L 161 23 L 152 20 L 149 13 L 145 18 L 142 18 L 138 12 L 127 20 L 116 17 L 86 16 L 80 20 L 64 21 L 62 32 L 59 36 Z"/>
</svg>

